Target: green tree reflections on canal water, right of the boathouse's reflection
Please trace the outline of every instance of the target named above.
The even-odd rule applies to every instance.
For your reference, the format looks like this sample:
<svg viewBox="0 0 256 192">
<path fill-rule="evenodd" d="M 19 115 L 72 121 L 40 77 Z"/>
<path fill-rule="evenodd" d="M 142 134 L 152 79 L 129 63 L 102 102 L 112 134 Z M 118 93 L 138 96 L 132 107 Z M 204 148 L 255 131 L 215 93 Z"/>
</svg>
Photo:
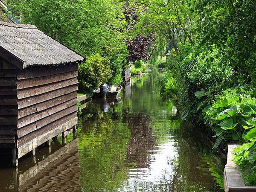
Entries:
<svg viewBox="0 0 256 192">
<path fill-rule="evenodd" d="M 161 98 L 157 76 L 154 70 L 133 78 L 131 94 L 119 104 L 93 102 L 84 110 L 84 190 L 221 191 L 209 172 L 213 163 L 202 156 L 211 157 L 209 141 L 189 131 L 172 102 Z"/>
</svg>

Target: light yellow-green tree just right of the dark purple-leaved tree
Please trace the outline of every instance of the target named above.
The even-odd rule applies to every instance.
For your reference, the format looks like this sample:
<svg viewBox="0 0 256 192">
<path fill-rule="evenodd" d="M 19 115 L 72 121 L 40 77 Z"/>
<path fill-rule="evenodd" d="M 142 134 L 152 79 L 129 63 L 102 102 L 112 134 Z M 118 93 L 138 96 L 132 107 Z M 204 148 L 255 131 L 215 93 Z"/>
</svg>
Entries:
<svg viewBox="0 0 256 192">
<path fill-rule="evenodd" d="M 192 26 L 196 15 L 189 0 L 131 0 L 144 10 L 137 30 L 156 32 L 172 44 L 177 55 L 180 45 L 193 44 Z"/>
</svg>

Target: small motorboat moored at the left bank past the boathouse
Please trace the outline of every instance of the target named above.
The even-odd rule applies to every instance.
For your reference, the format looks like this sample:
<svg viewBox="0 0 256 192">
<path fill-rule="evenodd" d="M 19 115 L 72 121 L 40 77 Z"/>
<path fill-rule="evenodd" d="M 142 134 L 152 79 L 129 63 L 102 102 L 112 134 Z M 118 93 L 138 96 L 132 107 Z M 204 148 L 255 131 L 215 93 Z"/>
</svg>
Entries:
<svg viewBox="0 0 256 192">
<path fill-rule="evenodd" d="M 101 86 L 93 91 L 93 96 L 97 98 L 116 98 L 122 90 L 121 85 L 116 84 L 101 84 Z"/>
</svg>

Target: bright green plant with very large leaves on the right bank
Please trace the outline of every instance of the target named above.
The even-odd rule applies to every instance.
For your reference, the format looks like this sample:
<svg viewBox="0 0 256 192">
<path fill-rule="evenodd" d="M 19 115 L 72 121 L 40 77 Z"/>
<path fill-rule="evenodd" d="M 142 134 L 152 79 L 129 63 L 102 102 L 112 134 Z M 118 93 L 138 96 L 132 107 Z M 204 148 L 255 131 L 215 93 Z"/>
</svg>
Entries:
<svg viewBox="0 0 256 192">
<path fill-rule="evenodd" d="M 223 141 L 256 140 L 255 98 L 240 94 L 237 89 L 228 89 L 202 112 L 205 123 L 211 125 L 215 131 L 214 137 L 217 137 L 217 140 L 214 148 Z"/>
</svg>

